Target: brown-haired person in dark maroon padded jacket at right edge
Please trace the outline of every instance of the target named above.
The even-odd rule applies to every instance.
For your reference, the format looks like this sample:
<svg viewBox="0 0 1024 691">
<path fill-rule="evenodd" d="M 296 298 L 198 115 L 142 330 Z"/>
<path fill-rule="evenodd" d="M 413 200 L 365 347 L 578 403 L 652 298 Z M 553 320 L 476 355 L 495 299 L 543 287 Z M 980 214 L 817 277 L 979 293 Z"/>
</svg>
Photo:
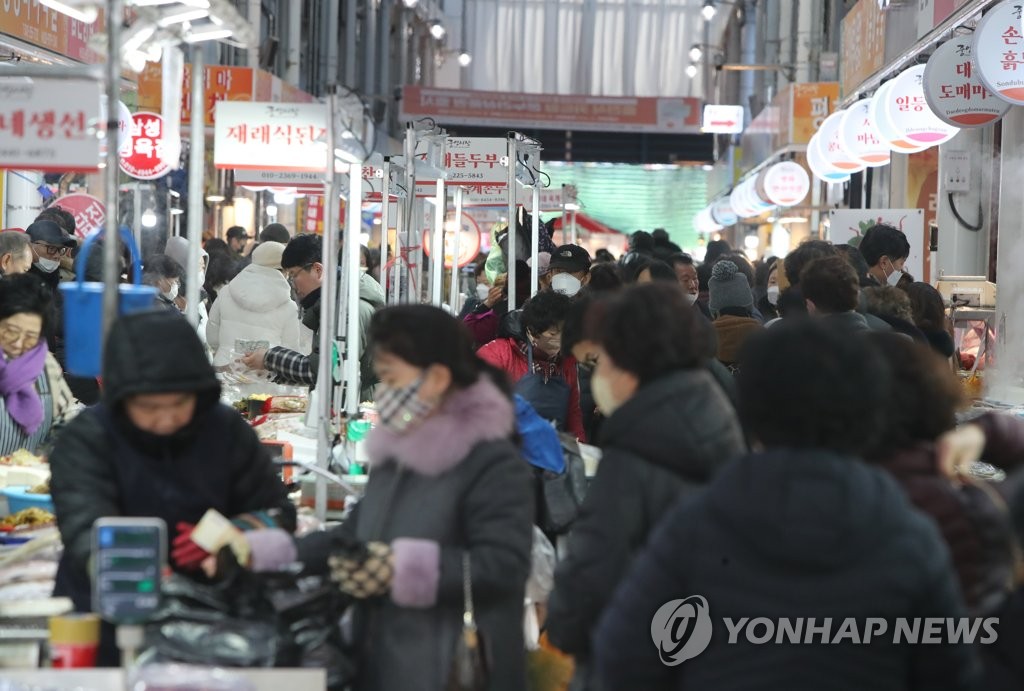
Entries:
<svg viewBox="0 0 1024 691">
<path fill-rule="evenodd" d="M 895 290 L 895 289 L 893 289 Z M 966 433 L 978 458 L 1006 470 L 1024 463 L 1024 422 L 986 414 L 972 429 L 945 436 L 964 406 L 959 382 L 941 356 L 894 334 L 871 337 L 892 372 L 881 435 L 868 460 L 899 482 L 910 502 L 935 519 L 949 547 L 964 599 L 973 616 L 992 616 L 1014 582 L 1014 535 L 1004 500 L 982 481 L 965 480 L 965 462 L 943 472 L 948 444 Z M 976 459 L 968 459 L 973 461 Z M 952 474 L 952 473 L 949 473 Z"/>
</svg>

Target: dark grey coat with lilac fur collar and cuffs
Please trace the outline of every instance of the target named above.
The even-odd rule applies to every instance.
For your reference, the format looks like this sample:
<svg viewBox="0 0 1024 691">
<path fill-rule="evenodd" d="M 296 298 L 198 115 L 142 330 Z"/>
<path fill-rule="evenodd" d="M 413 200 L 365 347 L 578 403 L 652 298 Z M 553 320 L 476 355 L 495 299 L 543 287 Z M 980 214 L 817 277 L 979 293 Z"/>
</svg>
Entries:
<svg viewBox="0 0 1024 691">
<path fill-rule="evenodd" d="M 326 572 L 332 551 L 352 538 L 394 549 L 389 595 L 358 608 L 358 691 L 446 688 L 462 631 L 467 553 L 490 659 L 487 688 L 525 689 L 522 613 L 534 501 L 528 465 L 509 440 L 513 429 L 512 401 L 484 378 L 404 435 L 376 428 L 367 445 L 370 482 L 353 514 L 334 531 L 298 542 L 312 573 Z"/>
</svg>

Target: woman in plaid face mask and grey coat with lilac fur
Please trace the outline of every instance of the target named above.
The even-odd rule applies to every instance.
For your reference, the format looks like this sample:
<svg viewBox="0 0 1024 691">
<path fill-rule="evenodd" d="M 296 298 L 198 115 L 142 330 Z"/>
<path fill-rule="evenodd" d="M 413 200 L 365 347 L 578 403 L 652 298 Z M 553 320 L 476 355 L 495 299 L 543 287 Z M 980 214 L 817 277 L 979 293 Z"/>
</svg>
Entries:
<svg viewBox="0 0 1024 691">
<path fill-rule="evenodd" d="M 447 688 L 464 576 L 489 653 L 486 688 L 521 691 L 534 502 L 509 393 L 466 328 L 435 307 L 381 310 L 370 340 L 380 424 L 366 495 L 340 527 L 298 541 L 299 560 L 359 601 L 357 691 Z M 373 556 L 342 557 L 361 552 L 353 546 Z M 269 565 L 259 545 L 252 554 Z M 390 567 L 360 588 L 380 562 Z"/>
</svg>

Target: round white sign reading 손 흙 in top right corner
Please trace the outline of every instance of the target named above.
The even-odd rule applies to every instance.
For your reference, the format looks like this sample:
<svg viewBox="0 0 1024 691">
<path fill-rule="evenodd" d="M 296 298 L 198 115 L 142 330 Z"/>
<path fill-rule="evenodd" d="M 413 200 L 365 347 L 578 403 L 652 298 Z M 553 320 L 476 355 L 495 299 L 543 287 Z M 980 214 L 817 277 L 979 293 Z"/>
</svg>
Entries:
<svg viewBox="0 0 1024 691">
<path fill-rule="evenodd" d="M 975 28 L 972 46 L 981 83 L 1015 105 L 1024 105 L 1021 14 L 1019 2 L 1004 2 L 992 7 Z"/>
</svg>

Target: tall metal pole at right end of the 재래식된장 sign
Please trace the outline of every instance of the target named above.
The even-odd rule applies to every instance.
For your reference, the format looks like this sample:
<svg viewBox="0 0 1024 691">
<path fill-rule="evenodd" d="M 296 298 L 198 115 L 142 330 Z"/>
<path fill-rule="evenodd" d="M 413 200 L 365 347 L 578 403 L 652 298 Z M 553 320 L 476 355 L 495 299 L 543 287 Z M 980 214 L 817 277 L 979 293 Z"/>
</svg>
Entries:
<svg viewBox="0 0 1024 691">
<path fill-rule="evenodd" d="M 334 162 L 334 116 L 338 107 L 338 95 L 332 91 L 328 96 L 327 128 L 327 169 L 324 172 L 324 246 L 321 264 L 324 266 L 324 282 L 321 287 L 321 328 L 319 328 L 319 370 L 316 375 L 316 396 L 319 411 L 316 420 L 316 463 L 327 470 L 331 467 L 331 450 L 334 445 L 332 433 L 332 389 L 334 364 L 334 317 L 336 313 L 335 290 L 337 289 L 338 266 L 338 175 Z M 314 506 L 317 518 L 327 515 L 327 481 L 316 478 Z"/>
</svg>

